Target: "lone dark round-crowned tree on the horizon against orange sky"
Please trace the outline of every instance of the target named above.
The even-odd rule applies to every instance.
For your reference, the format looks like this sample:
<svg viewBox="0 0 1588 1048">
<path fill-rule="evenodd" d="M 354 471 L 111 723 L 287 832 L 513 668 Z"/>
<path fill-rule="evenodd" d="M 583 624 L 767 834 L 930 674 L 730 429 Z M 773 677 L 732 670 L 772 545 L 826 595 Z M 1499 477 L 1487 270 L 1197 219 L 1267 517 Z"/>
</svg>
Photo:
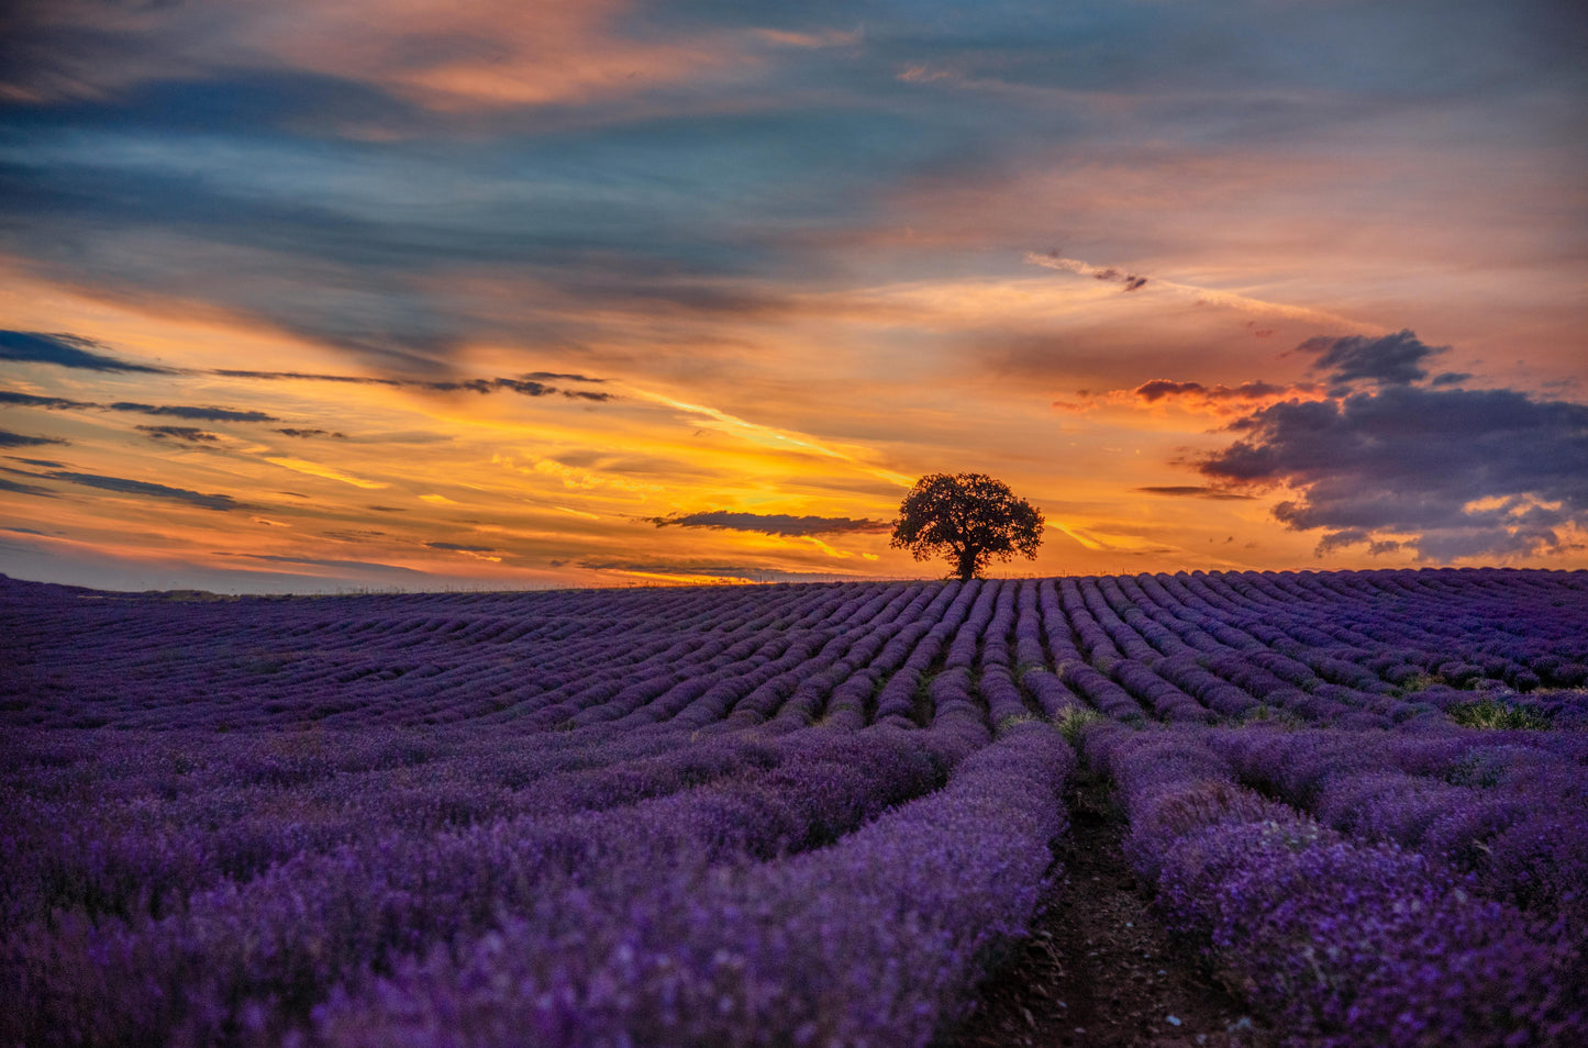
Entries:
<svg viewBox="0 0 1588 1048">
<path fill-rule="evenodd" d="M 932 473 L 899 505 L 892 545 L 916 561 L 945 557 L 961 580 L 972 580 L 992 559 L 1034 559 L 1042 522 L 1042 510 L 986 473 Z"/>
</svg>

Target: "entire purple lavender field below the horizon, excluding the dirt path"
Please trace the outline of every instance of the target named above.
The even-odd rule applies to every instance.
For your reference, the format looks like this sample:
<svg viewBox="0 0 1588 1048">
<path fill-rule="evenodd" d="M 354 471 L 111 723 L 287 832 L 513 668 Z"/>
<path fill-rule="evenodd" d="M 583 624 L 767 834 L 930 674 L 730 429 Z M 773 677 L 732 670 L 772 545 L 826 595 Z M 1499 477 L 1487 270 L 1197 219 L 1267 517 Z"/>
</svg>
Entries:
<svg viewBox="0 0 1588 1048">
<path fill-rule="evenodd" d="M 1112 781 L 1285 1045 L 1588 1043 L 1588 573 L 0 581 L 0 1048 L 951 1043 Z"/>
</svg>

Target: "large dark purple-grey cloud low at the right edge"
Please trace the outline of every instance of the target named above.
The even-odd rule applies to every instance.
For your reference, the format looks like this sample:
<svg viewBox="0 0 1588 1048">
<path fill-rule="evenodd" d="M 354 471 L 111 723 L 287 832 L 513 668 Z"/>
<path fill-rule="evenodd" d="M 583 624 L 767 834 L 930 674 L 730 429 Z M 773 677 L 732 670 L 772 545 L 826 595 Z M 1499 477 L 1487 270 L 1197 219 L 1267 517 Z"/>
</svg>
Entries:
<svg viewBox="0 0 1588 1048">
<path fill-rule="evenodd" d="M 1380 372 L 1382 373 L 1382 372 Z M 1275 516 L 1323 530 L 1320 553 L 1397 541 L 1424 561 L 1536 554 L 1588 527 L 1588 406 L 1510 389 L 1386 384 L 1283 402 L 1199 470 L 1220 484 L 1288 486 Z"/>
</svg>

